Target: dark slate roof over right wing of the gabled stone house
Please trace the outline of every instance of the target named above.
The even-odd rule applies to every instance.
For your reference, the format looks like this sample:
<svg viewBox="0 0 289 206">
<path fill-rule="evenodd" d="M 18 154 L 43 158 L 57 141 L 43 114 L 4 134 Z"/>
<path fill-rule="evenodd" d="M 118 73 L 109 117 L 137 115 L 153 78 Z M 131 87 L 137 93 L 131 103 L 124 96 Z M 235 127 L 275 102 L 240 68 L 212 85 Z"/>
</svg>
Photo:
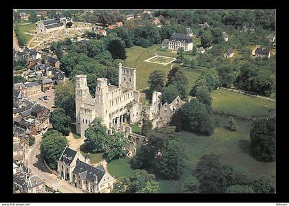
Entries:
<svg viewBox="0 0 289 206">
<path fill-rule="evenodd" d="M 89 182 L 93 182 L 95 176 L 97 176 L 97 181 L 100 182 L 100 180 L 103 179 L 103 176 L 105 175 L 105 172 L 103 170 L 100 170 L 100 168 L 94 168 L 94 166 L 84 163 L 79 159 L 77 159 L 76 167 L 74 168 L 72 173 L 80 174 L 81 179 Z"/>
</svg>

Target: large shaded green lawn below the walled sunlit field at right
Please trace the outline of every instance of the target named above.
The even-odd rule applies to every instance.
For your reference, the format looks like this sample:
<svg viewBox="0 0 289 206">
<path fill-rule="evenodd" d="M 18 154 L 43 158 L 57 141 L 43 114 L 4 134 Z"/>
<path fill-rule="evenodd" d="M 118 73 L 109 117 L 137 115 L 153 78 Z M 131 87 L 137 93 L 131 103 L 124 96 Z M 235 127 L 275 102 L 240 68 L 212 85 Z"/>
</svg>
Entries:
<svg viewBox="0 0 289 206">
<path fill-rule="evenodd" d="M 248 155 L 250 122 L 236 120 L 239 127 L 236 132 L 231 132 L 225 128 L 228 118 L 215 117 L 219 119 L 220 127 L 216 128 L 215 133 L 210 137 L 180 132 L 181 146 L 186 155 L 184 173 L 177 183 L 158 180 L 161 193 L 182 192 L 182 183 L 191 175 L 197 161 L 202 155 L 211 152 L 219 154 L 222 163 L 244 167 L 255 179 L 264 174 L 275 174 L 275 162 L 259 162 Z"/>
</svg>

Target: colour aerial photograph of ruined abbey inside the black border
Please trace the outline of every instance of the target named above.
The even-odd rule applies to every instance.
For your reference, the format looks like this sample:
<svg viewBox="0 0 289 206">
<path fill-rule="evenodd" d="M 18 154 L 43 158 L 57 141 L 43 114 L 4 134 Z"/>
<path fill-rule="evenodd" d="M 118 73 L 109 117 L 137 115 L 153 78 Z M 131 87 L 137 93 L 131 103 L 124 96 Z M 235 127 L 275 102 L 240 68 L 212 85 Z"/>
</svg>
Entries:
<svg viewBox="0 0 289 206">
<path fill-rule="evenodd" d="M 11 13 L 13 194 L 276 193 L 275 9 Z"/>
</svg>

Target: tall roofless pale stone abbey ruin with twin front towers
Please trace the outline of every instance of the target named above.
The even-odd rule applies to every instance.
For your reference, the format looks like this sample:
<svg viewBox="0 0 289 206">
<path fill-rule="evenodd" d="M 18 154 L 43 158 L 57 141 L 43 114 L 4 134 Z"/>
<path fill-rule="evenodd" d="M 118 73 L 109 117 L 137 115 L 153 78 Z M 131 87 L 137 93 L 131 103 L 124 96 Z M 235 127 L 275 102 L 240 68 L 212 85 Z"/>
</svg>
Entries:
<svg viewBox="0 0 289 206">
<path fill-rule="evenodd" d="M 103 119 L 107 128 L 119 128 L 140 120 L 140 93 L 136 91 L 136 69 L 118 64 L 118 86 L 107 78 L 98 78 L 95 98 L 89 94 L 86 75 L 76 76 L 76 132 L 85 130 L 96 117 Z"/>
</svg>

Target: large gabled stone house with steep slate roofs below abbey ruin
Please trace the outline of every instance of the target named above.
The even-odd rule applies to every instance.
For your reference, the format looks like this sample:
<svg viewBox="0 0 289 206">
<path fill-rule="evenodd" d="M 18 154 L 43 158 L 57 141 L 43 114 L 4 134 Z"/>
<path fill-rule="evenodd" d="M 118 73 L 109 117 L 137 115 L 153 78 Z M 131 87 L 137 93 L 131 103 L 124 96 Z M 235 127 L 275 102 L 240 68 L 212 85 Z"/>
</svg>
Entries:
<svg viewBox="0 0 289 206">
<path fill-rule="evenodd" d="M 109 193 L 114 185 L 114 178 L 105 171 L 103 165 L 89 165 L 87 156 L 83 157 L 69 147 L 65 148 L 58 160 L 57 174 L 58 178 L 92 193 Z"/>
</svg>

